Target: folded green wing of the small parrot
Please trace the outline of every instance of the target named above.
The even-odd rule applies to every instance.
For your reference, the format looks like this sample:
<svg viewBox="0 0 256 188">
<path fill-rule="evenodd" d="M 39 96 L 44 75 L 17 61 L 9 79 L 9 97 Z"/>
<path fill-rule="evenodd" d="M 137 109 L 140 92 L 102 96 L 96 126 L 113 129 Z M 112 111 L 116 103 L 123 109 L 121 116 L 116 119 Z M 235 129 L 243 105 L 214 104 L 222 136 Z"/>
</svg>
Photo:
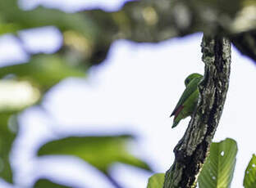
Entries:
<svg viewBox="0 0 256 188">
<path fill-rule="evenodd" d="M 197 86 L 201 79 L 202 78 L 194 78 L 191 80 L 191 82 L 185 88 L 185 91 L 182 93 L 180 100 L 178 101 L 175 109 L 171 113 L 171 116 L 178 114 L 178 113 L 176 113 L 176 111 L 181 109 L 181 106 L 182 106 L 182 104 L 184 104 L 185 100 L 187 100 L 190 97 L 190 95 L 197 89 Z"/>
</svg>

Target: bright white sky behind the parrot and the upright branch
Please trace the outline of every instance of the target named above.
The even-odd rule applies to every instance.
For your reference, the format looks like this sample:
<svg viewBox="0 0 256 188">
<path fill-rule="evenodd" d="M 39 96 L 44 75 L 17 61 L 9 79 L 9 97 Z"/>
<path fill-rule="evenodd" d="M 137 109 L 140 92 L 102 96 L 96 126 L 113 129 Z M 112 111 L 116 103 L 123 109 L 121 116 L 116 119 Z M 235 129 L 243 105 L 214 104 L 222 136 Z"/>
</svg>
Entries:
<svg viewBox="0 0 256 188">
<path fill-rule="evenodd" d="M 21 137 L 12 159 L 16 182 L 27 185 L 34 181 L 32 177 L 43 175 L 73 181 L 80 187 L 112 187 L 103 177 L 94 177 L 98 172 L 80 160 L 34 159 L 39 143 L 71 133 L 135 134 L 138 145 L 130 145 L 130 150 L 156 172 L 165 172 L 190 120 L 171 129 L 169 114 L 185 89 L 185 77 L 194 72 L 203 74 L 201 38 L 201 34 L 194 34 L 158 44 L 120 40 L 113 43 L 103 65 L 91 69 L 89 78 L 70 78 L 53 87 L 43 103 L 48 113 L 32 108 L 21 116 Z M 242 186 L 245 168 L 256 153 L 250 146 L 255 135 L 255 73 L 253 62 L 233 48 L 230 89 L 214 141 L 231 137 L 238 143 L 234 188 Z M 150 176 L 122 164 L 115 165 L 112 173 L 125 188 L 143 188 Z"/>
</svg>

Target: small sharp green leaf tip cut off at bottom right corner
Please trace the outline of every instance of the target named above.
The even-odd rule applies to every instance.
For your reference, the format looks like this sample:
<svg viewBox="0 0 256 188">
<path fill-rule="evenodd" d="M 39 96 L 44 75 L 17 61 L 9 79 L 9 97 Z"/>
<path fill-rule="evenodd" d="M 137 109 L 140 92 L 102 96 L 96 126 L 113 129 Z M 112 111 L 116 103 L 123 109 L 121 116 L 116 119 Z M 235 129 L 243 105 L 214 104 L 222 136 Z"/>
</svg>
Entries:
<svg viewBox="0 0 256 188">
<path fill-rule="evenodd" d="M 253 154 L 245 170 L 244 184 L 245 188 L 256 187 L 256 156 Z"/>
</svg>

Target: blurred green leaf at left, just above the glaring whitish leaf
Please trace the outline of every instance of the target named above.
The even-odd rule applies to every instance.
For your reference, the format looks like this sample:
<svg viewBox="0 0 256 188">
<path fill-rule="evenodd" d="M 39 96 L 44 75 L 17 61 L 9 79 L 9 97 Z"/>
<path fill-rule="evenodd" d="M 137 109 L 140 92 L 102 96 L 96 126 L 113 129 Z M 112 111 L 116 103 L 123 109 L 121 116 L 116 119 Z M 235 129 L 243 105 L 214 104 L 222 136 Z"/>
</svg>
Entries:
<svg viewBox="0 0 256 188">
<path fill-rule="evenodd" d="M 29 63 L 0 68 L 0 78 L 7 75 L 29 80 L 36 87 L 46 91 L 64 78 L 85 76 L 85 71 L 69 65 L 61 56 L 38 55 L 33 56 Z"/>
</svg>

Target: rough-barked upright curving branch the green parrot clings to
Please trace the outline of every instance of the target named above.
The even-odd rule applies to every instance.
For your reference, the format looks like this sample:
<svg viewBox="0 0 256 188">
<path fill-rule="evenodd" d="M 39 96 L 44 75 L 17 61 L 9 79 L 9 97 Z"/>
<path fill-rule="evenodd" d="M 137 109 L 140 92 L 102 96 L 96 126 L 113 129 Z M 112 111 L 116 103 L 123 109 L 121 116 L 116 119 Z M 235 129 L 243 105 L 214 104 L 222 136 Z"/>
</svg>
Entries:
<svg viewBox="0 0 256 188">
<path fill-rule="evenodd" d="M 226 101 L 231 43 L 224 37 L 204 36 L 201 46 L 205 70 L 199 83 L 198 105 L 184 137 L 174 149 L 175 161 L 166 172 L 164 188 L 196 186 Z"/>
</svg>

